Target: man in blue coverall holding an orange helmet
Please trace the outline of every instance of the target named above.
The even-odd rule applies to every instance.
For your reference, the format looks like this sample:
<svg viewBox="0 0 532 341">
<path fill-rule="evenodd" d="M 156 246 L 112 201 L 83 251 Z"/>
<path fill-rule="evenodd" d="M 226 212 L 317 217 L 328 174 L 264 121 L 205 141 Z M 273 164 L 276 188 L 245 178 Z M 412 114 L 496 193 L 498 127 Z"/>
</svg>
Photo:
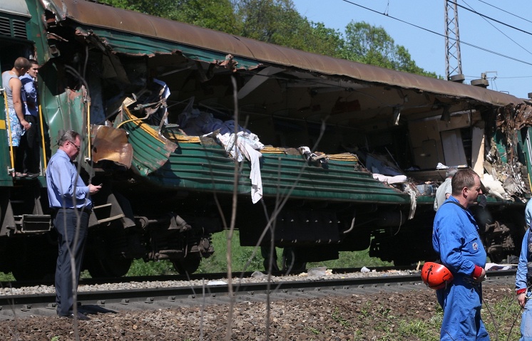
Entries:
<svg viewBox="0 0 532 341">
<path fill-rule="evenodd" d="M 469 211 L 481 194 L 479 175 L 461 169 L 451 186 L 452 195 L 436 212 L 432 231 L 434 250 L 454 276 L 446 288 L 436 290 L 444 310 L 440 340 L 490 340 L 480 315 L 486 251 L 479 226 Z"/>
</svg>

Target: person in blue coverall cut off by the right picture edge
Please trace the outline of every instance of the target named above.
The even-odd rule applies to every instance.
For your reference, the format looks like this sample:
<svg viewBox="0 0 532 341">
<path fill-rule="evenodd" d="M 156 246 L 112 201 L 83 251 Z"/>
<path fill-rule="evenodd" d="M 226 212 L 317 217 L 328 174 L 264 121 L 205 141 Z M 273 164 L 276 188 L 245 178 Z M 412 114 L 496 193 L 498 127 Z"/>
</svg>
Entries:
<svg viewBox="0 0 532 341">
<path fill-rule="evenodd" d="M 525 209 L 526 230 L 521 244 L 521 255 L 517 265 L 516 273 L 516 293 L 519 305 L 525 308 L 521 315 L 521 338 L 520 341 L 532 341 L 532 267 L 528 269 L 528 262 L 532 262 L 532 235 L 530 234 L 530 223 L 532 216 L 532 200 L 528 201 Z M 529 251 L 530 250 L 530 251 Z M 531 264 L 532 266 L 532 264 Z M 530 273 L 529 273 L 530 271 Z"/>
</svg>

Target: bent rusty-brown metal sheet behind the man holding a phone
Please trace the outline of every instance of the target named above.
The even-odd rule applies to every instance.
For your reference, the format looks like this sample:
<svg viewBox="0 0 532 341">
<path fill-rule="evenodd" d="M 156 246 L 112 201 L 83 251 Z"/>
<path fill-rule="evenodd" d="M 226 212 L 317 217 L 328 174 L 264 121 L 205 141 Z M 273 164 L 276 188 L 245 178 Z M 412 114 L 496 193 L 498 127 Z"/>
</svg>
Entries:
<svg viewBox="0 0 532 341">
<path fill-rule="evenodd" d="M 126 168 L 131 167 L 133 147 L 128 143 L 125 130 L 92 125 L 91 135 L 93 162 L 106 160 Z"/>
</svg>

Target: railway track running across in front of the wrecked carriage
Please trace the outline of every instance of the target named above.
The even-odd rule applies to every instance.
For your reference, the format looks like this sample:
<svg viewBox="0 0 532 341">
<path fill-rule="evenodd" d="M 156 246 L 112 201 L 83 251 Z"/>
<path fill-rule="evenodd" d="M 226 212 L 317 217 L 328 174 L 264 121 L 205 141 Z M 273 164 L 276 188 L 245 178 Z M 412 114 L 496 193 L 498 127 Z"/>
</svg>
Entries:
<svg viewBox="0 0 532 341">
<path fill-rule="evenodd" d="M 344 271 L 342 269 L 340 271 Z M 339 273 L 337 271 L 337 273 Z M 340 272 L 345 273 L 345 272 Z M 488 271 L 484 285 L 512 286 L 515 270 Z M 222 278 L 217 274 L 217 278 Z M 240 274 L 241 275 L 241 274 Z M 159 277 L 159 276 L 158 276 Z M 175 280 L 175 276 L 172 276 Z M 203 275 L 205 278 L 205 275 Z M 131 278 L 121 278 L 131 282 Z M 153 278 L 152 278 L 153 279 Z M 159 278 L 160 279 L 160 278 Z M 117 279 L 118 280 L 118 279 Z M 91 282 L 83 280 L 83 283 Z M 419 273 L 401 276 L 383 272 L 382 276 L 327 278 L 318 276 L 300 280 L 273 281 L 264 279 L 253 283 L 232 282 L 235 302 L 265 302 L 266 300 L 287 300 L 294 298 L 316 298 L 333 295 L 371 294 L 381 291 L 402 291 L 424 289 Z M 203 285 L 173 286 L 161 288 L 127 288 L 78 292 L 80 310 L 86 313 L 116 313 L 121 310 L 157 310 L 164 308 L 220 305 L 230 302 L 230 286 L 220 280 L 204 280 Z M 56 315 L 55 293 L 32 293 L 21 295 L 0 295 L 0 320 L 31 317 L 35 315 Z"/>
</svg>

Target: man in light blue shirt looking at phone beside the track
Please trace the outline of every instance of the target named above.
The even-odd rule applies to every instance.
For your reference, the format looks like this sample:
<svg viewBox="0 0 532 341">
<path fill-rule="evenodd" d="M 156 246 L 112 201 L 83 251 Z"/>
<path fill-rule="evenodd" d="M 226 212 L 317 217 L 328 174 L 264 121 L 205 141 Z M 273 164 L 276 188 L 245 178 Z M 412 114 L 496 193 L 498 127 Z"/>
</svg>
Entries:
<svg viewBox="0 0 532 341">
<path fill-rule="evenodd" d="M 86 315 L 74 313 L 76 305 L 73 301 L 73 290 L 78 288 L 88 233 L 88 218 L 93 209 L 90 196 L 98 193 L 101 186 L 86 186 L 73 164 L 81 148 L 77 132 L 65 132 L 58 145 L 58 151 L 53 154 L 46 168 L 48 201 L 54 214 L 53 227 L 58 234 L 59 248 L 56 265 L 56 310 L 57 315 L 61 317 L 88 320 Z"/>
</svg>

